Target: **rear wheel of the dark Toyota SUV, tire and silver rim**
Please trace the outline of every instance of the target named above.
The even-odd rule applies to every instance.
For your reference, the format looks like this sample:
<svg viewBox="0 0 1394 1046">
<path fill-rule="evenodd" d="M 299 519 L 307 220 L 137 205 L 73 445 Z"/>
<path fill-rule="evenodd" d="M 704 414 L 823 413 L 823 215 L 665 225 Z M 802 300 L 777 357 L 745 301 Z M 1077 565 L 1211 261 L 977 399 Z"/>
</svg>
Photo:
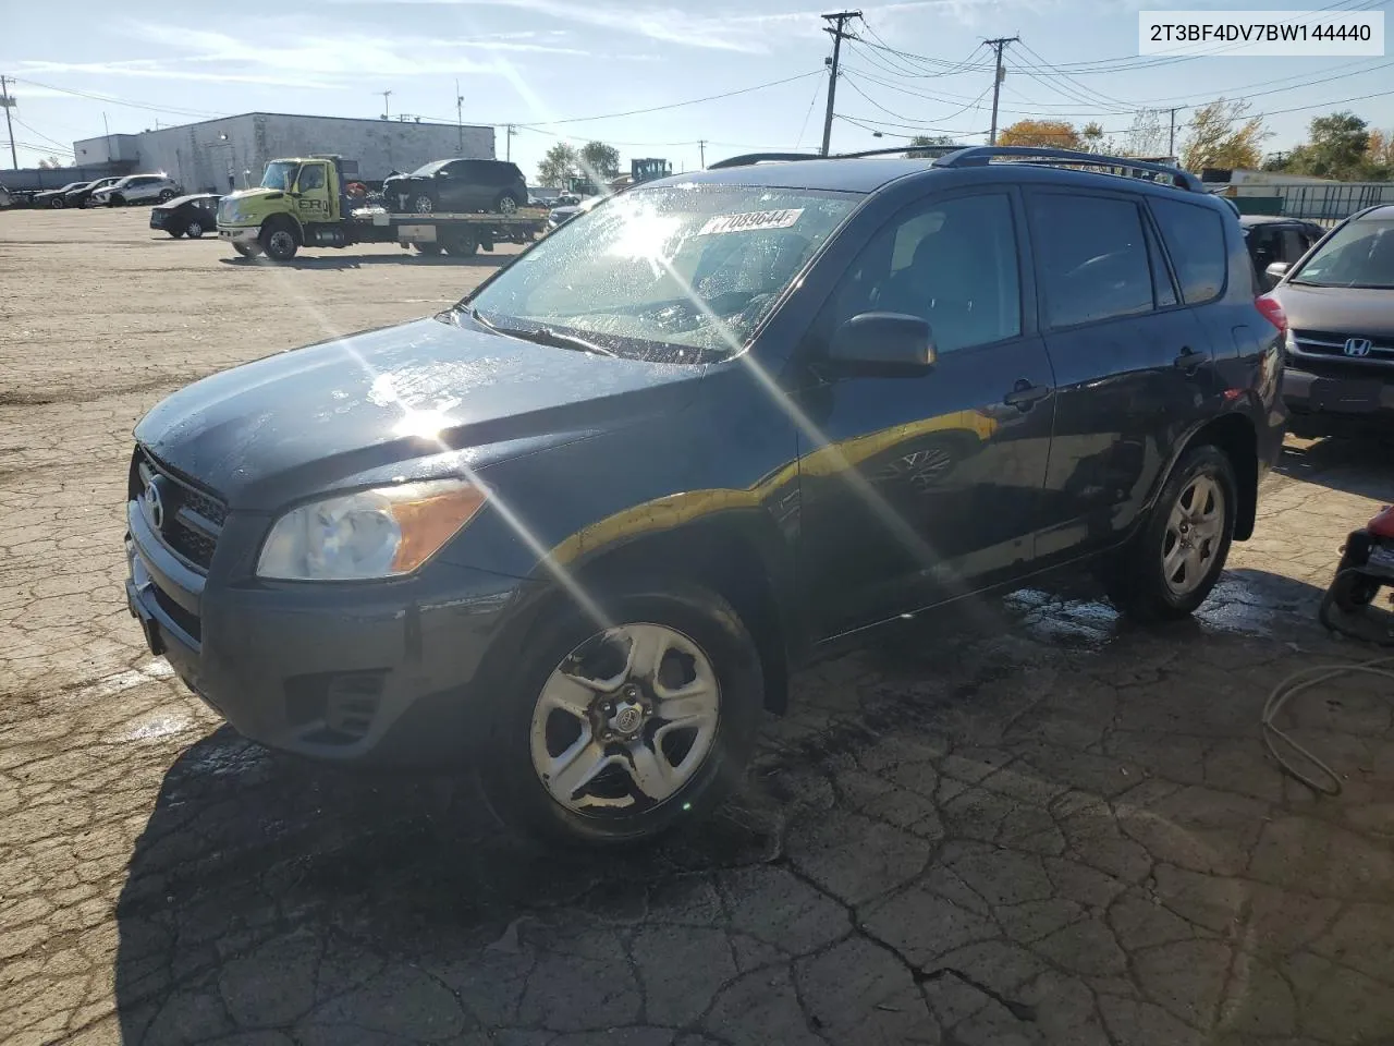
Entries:
<svg viewBox="0 0 1394 1046">
<path fill-rule="evenodd" d="M 1210 445 L 1186 450 L 1110 577 L 1114 605 L 1149 622 L 1195 612 L 1224 569 L 1238 506 L 1230 457 Z"/>
</svg>

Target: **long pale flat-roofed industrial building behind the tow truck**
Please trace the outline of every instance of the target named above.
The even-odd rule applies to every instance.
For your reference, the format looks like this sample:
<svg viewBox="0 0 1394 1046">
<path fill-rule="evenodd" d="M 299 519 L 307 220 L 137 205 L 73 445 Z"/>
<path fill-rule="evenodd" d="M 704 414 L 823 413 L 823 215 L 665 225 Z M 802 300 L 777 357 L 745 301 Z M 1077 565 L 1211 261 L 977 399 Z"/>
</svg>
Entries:
<svg viewBox="0 0 1394 1046">
<path fill-rule="evenodd" d="M 495 156 L 492 127 L 289 113 L 243 113 L 141 134 L 107 134 L 72 142 L 72 152 L 78 166 L 163 173 L 190 192 L 255 185 L 266 162 L 279 156 L 337 153 L 357 163 L 364 181 L 450 156 Z"/>
</svg>

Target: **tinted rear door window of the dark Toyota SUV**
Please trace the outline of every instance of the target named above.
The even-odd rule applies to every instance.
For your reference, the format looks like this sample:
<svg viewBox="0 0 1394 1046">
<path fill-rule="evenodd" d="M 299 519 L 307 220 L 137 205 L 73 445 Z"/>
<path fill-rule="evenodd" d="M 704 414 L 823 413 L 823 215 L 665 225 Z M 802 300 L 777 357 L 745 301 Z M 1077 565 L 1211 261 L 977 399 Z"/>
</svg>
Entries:
<svg viewBox="0 0 1394 1046">
<path fill-rule="evenodd" d="M 1030 209 L 1050 326 L 1153 310 L 1151 265 L 1136 201 L 1034 192 Z"/>
</svg>

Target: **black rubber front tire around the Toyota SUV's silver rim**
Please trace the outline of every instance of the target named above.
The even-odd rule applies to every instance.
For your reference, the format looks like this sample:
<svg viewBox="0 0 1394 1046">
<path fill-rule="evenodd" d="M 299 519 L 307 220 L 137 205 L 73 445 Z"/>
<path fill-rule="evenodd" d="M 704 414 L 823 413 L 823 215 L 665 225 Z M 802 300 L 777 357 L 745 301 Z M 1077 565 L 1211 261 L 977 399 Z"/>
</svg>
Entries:
<svg viewBox="0 0 1394 1046">
<path fill-rule="evenodd" d="M 606 618 L 618 622 L 615 629 L 602 633 L 576 607 L 558 605 L 527 637 L 521 657 L 507 672 L 510 681 L 489 688 L 496 695 L 489 708 L 491 736 L 480 749 L 485 795 L 505 823 L 553 844 L 631 845 L 690 824 L 739 784 L 760 725 L 764 697 L 760 655 L 723 598 L 694 584 L 644 584 L 602 596 L 601 604 Z M 655 731 L 665 720 L 659 711 L 664 702 L 651 685 L 654 674 L 636 672 L 625 679 L 626 651 L 634 647 L 623 639 L 604 643 L 605 635 L 616 633 L 644 636 L 648 649 L 669 651 L 659 657 L 659 665 L 671 689 L 675 681 L 676 689 L 705 681 L 701 696 L 683 699 L 691 722 L 701 725 L 669 727 L 665 735 L 673 739 L 672 745 L 657 738 Z M 673 653 L 676 657 L 671 657 Z M 567 665 L 570 672 L 563 675 Z M 704 668 L 698 671 L 698 665 Z M 592 692 L 567 678 L 587 672 L 591 679 L 612 675 L 616 689 Z M 687 675 L 691 682 L 684 683 Z M 627 689 L 630 685 L 637 693 Z M 546 711 L 548 690 L 580 695 L 588 711 L 581 715 L 559 707 Z M 581 707 L 580 702 L 576 707 Z M 597 734 L 625 725 L 631 731 L 625 736 Z M 577 743 L 583 748 L 577 749 Z M 560 757 L 567 752 L 577 755 L 563 761 Z M 588 757 L 601 752 L 602 757 Z M 650 788 L 662 792 L 657 801 L 640 791 L 636 774 L 626 768 L 638 766 L 636 756 L 647 767 Z M 682 778 L 666 780 L 657 771 L 659 766 Z M 563 805 L 549 791 L 565 784 L 549 785 L 544 780 L 546 767 L 556 774 L 570 768 L 579 781 L 569 792 L 569 803 Z M 585 768 L 588 777 L 583 774 Z M 590 795 L 592 789 L 598 795 Z M 622 803 L 631 803 L 633 809 Z"/>
</svg>

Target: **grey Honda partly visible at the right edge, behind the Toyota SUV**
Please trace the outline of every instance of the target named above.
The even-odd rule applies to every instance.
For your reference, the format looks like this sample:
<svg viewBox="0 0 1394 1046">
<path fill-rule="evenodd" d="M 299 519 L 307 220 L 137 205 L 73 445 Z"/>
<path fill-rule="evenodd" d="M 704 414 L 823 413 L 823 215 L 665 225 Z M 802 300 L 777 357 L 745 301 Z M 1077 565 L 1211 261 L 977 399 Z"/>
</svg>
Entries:
<svg viewBox="0 0 1394 1046">
<path fill-rule="evenodd" d="M 1394 205 L 1352 215 L 1269 276 L 1291 325 L 1282 399 L 1292 431 L 1394 435 Z"/>
</svg>

